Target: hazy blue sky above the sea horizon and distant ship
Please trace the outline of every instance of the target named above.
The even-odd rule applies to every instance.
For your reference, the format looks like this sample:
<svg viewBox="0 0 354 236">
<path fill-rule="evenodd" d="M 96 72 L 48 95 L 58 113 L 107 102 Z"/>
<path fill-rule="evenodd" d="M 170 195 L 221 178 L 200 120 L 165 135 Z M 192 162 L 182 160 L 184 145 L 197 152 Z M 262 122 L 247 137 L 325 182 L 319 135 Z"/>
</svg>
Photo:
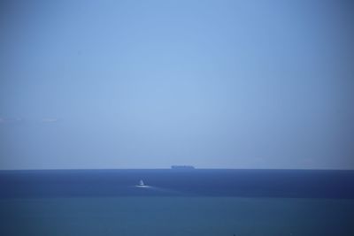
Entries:
<svg viewBox="0 0 354 236">
<path fill-rule="evenodd" d="M 354 169 L 354 4 L 0 1 L 0 169 Z"/>
</svg>

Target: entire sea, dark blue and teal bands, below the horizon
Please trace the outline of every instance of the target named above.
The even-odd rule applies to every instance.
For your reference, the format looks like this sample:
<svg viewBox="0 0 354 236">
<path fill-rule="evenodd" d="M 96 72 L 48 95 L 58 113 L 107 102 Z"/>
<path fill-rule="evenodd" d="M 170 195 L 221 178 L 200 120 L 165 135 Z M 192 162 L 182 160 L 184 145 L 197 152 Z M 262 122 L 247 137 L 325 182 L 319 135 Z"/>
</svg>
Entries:
<svg viewBox="0 0 354 236">
<path fill-rule="evenodd" d="M 354 171 L 0 171 L 0 235 L 353 236 Z"/>
</svg>

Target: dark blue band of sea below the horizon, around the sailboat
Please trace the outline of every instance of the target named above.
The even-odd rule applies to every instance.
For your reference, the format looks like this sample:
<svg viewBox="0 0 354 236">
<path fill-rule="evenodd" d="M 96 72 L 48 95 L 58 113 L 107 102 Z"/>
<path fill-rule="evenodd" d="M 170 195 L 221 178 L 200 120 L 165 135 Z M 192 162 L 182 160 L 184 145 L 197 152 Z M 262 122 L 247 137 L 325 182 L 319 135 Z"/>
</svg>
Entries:
<svg viewBox="0 0 354 236">
<path fill-rule="evenodd" d="M 140 179 L 151 188 L 134 187 Z M 353 199 L 353 186 L 354 171 L 0 171 L 1 198 L 181 195 Z"/>
</svg>

